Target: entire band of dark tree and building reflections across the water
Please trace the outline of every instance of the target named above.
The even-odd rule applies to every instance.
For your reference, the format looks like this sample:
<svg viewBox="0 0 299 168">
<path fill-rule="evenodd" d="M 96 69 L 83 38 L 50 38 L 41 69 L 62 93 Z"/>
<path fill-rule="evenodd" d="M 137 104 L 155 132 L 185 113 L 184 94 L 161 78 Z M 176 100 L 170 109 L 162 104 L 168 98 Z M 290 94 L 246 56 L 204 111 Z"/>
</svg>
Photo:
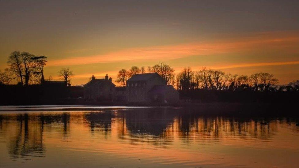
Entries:
<svg viewBox="0 0 299 168">
<path fill-rule="evenodd" d="M 86 144 L 97 144 L 104 138 L 108 147 L 130 144 L 167 148 L 173 144 L 184 146 L 224 141 L 254 144 L 258 140 L 271 139 L 281 124 L 294 122 L 295 119 L 289 118 L 201 116 L 166 108 L 12 113 L 0 115 L 0 135 L 7 136 L 9 156 L 17 159 L 45 156 L 44 137 L 47 137 L 47 142 L 51 139 L 53 143 L 65 144 L 80 139 L 84 139 Z M 299 133 L 297 127 L 285 128 Z"/>
</svg>

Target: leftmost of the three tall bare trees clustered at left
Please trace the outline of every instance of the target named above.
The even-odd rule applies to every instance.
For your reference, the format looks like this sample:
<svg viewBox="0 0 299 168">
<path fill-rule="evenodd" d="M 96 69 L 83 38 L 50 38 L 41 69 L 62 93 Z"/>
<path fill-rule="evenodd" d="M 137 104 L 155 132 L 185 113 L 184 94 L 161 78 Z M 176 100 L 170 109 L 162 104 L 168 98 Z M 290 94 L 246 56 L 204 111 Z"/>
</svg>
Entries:
<svg viewBox="0 0 299 168">
<path fill-rule="evenodd" d="M 20 51 L 13 51 L 8 57 L 8 72 L 13 73 L 19 78 L 19 81 L 23 85 L 23 69 L 24 65 L 21 60 L 21 53 Z"/>
</svg>

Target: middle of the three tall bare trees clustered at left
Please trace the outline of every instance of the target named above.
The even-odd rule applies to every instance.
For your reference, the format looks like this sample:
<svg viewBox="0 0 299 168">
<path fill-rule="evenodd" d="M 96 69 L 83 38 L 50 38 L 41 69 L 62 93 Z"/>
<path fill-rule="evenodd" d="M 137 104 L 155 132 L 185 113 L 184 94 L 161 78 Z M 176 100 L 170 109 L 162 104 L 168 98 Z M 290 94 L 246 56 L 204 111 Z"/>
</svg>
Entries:
<svg viewBox="0 0 299 168">
<path fill-rule="evenodd" d="M 35 72 L 35 62 L 31 59 L 32 57 L 34 57 L 34 55 L 28 52 L 21 53 L 21 61 L 24 65 L 23 76 L 25 78 L 25 85 L 29 84 L 29 80 L 32 76 L 32 73 Z"/>
</svg>

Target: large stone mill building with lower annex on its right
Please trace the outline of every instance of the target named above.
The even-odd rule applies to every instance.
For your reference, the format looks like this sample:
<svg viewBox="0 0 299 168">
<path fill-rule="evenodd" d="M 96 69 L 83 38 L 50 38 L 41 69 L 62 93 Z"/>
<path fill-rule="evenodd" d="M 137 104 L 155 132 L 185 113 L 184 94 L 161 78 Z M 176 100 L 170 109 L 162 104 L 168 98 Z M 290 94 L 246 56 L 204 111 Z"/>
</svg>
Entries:
<svg viewBox="0 0 299 168">
<path fill-rule="evenodd" d="M 136 74 L 127 80 L 127 101 L 175 103 L 179 93 L 158 73 Z"/>
</svg>

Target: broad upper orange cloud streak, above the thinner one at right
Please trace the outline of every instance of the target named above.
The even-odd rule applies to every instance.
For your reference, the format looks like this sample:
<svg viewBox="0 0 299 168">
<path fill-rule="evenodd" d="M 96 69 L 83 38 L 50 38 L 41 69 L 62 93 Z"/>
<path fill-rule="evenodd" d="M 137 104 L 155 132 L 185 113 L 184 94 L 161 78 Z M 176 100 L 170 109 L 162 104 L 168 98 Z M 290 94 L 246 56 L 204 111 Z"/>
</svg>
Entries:
<svg viewBox="0 0 299 168">
<path fill-rule="evenodd" d="M 213 55 L 236 52 L 250 52 L 256 49 L 282 48 L 287 52 L 297 52 L 294 45 L 299 43 L 298 34 L 289 35 L 255 35 L 252 37 L 222 40 L 209 43 L 198 42 L 169 46 L 139 47 L 119 50 L 107 54 L 84 57 L 70 57 L 49 60 L 47 66 L 83 65 L 92 63 L 108 63 L 122 61 L 159 60 L 167 61 L 192 55 Z"/>
</svg>

